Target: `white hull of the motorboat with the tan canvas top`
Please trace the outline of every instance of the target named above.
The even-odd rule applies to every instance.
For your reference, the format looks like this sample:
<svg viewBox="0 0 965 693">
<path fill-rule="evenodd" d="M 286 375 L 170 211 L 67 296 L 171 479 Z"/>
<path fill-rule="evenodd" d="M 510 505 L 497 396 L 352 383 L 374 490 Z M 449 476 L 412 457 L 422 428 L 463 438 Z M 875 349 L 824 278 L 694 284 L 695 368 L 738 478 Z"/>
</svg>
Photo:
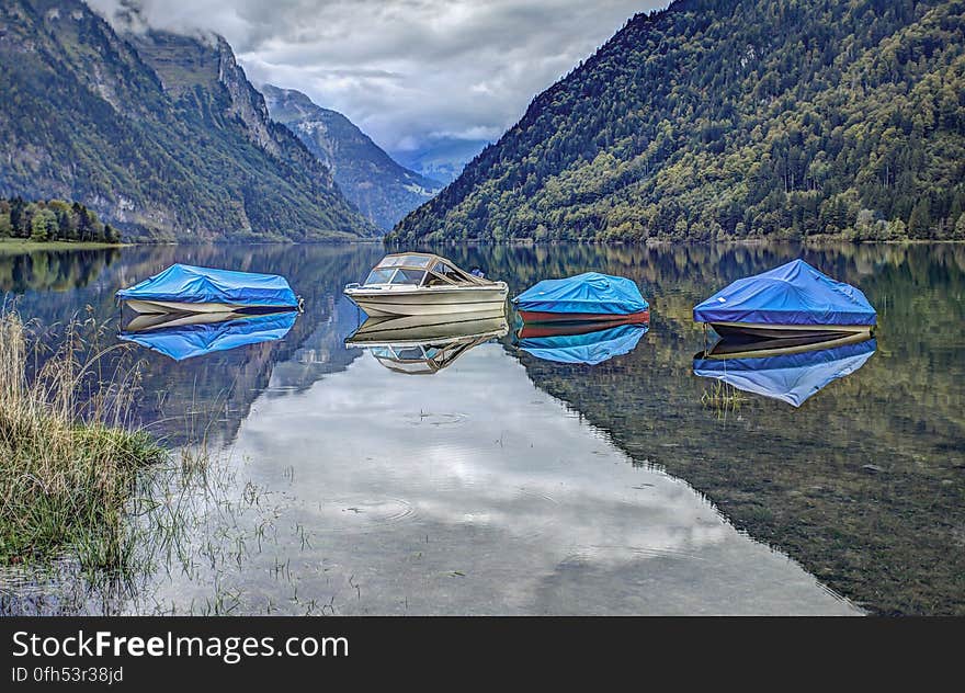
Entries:
<svg viewBox="0 0 965 693">
<path fill-rule="evenodd" d="M 348 296 L 370 317 L 439 316 L 459 314 L 502 315 L 509 289 L 499 283 L 492 287 L 418 288 L 391 291 L 347 288 Z"/>
</svg>

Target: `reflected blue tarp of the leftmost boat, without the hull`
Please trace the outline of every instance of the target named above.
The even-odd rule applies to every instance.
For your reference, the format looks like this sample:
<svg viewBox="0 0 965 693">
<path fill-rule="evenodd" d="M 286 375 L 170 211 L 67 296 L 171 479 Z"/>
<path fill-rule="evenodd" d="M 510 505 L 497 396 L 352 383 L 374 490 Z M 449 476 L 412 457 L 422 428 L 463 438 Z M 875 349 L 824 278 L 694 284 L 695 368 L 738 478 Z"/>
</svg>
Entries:
<svg viewBox="0 0 965 693">
<path fill-rule="evenodd" d="M 143 332 L 121 332 L 120 337 L 170 356 L 174 361 L 183 361 L 213 351 L 226 351 L 245 344 L 282 339 L 295 325 L 297 317 L 296 311 L 290 310 L 207 325 L 183 325 Z"/>
</svg>

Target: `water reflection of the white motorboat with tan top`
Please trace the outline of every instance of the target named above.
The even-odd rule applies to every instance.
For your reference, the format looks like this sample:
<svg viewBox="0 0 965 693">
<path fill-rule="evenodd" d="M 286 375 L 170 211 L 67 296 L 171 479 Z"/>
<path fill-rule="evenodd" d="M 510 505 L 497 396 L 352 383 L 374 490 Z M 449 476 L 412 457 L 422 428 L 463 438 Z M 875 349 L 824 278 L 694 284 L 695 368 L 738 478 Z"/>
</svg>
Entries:
<svg viewBox="0 0 965 693">
<path fill-rule="evenodd" d="M 367 349 L 389 371 L 433 375 L 470 349 L 508 332 L 506 316 L 492 313 L 368 318 L 345 345 Z"/>
</svg>

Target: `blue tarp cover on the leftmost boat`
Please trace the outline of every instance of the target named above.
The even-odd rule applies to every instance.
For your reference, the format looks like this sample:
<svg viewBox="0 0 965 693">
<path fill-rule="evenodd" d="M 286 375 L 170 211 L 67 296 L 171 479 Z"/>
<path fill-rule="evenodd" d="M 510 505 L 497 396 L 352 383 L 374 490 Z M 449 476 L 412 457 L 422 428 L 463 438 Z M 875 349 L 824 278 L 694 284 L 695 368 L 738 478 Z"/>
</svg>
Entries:
<svg viewBox="0 0 965 693">
<path fill-rule="evenodd" d="M 296 308 L 298 298 L 285 277 L 172 264 L 130 288 L 117 292 L 127 300 L 174 300 L 179 303 L 224 303 L 239 306 Z"/>
</svg>

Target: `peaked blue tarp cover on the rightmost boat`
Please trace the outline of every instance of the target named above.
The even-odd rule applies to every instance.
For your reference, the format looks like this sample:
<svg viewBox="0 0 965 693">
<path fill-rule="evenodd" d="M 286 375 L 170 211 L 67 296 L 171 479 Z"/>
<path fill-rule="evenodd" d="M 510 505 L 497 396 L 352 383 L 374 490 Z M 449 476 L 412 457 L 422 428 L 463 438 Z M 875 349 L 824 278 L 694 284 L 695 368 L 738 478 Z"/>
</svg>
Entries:
<svg viewBox="0 0 965 693">
<path fill-rule="evenodd" d="M 861 289 L 836 282 L 804 260 L 737 280 L 694 307 L 696 322 L 875 325 Z"/>
</svg>

